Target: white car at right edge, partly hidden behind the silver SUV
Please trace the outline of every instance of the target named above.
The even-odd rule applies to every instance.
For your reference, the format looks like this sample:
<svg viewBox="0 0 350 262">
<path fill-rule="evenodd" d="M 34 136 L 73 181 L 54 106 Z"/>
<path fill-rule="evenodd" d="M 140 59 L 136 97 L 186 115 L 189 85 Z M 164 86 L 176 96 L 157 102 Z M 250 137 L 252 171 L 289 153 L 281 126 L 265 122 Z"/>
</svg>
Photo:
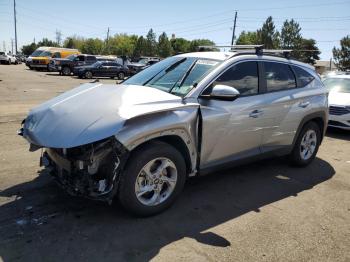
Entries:
<svg viewBox="0 0 350 262">
<path fill-rule="evenodd" d="M 332 75 L 323 83 L 329 90 L 328 126 L 350 130 L 350 75 Z"/>
</svg>

